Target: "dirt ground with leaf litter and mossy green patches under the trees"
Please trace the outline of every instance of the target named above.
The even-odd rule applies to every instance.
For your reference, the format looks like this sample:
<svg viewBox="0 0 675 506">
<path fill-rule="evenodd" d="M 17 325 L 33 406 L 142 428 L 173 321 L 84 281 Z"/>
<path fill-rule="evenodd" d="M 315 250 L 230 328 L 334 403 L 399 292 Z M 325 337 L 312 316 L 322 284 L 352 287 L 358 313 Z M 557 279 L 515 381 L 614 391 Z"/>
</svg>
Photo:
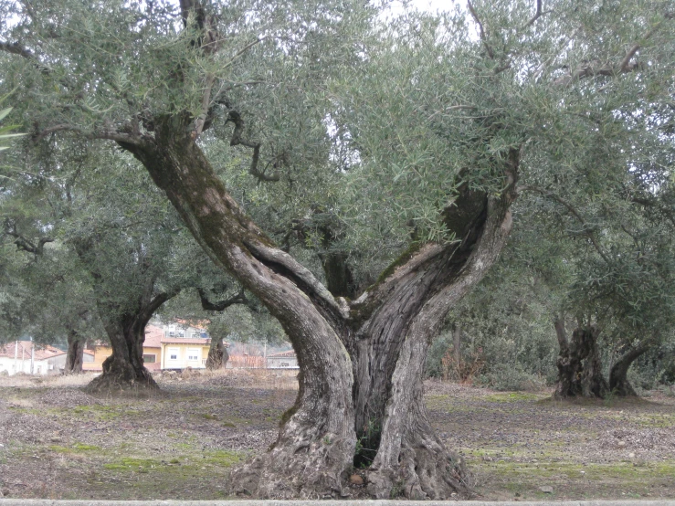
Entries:
<svg viewBox="0 0 675 506">
<path fill-rule="evenodd" d="M 151 397 L 85 394 L 90 375 L 0 377 L 0 497 L 226 498 L 229 469 L 269 446 L 297 392 L 255 373 L 163 375 Z M 675 499 L 673 396 L 559 403 L 428 382 L 426 398 L 476 499 Z"/>
</svg>

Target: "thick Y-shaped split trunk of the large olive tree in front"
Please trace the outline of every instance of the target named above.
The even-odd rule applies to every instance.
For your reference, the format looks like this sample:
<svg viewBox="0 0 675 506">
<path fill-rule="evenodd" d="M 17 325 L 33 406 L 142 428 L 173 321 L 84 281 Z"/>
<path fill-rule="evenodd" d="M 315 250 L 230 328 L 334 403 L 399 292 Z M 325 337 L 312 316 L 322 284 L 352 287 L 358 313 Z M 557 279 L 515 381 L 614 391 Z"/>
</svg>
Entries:
<svg viewBox="0 0 675 506">
<path fill-rule="evenodd" d="M 410 251 L 350 304 L 243 213 L 190 137 L 190 121 L 187 114 L 155 118 L 152 137 L 121 147 L 143 163 L 216 264 L 279 320 L 301 367 L 299 394 L 277 441 L 233 471 L 233 491 L 278 499 L 347 496 L 358 437 L 372 447 L 373 497 L 439 500 L 468 492 L 461 460 L 428 422 L 422 378 L 444 316 L 490 269 L 511 230 L 517 150 L 504 163 L 499 197 L 459 184 L 444 216 L 457 242 Z"/>
</svg>

